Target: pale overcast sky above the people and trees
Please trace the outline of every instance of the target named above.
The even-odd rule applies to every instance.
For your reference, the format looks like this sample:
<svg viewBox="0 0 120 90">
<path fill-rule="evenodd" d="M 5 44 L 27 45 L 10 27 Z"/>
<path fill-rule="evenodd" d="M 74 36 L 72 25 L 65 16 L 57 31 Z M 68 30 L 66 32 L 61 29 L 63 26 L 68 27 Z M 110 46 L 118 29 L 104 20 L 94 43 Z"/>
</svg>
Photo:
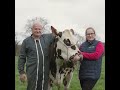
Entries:
<svg viewBox="0 0 120 90">
<path fill-rule="evenodd" d="M 15 0 L 15 32 L 24 33 L 27 19 L 37 16 L 58 31 L 72 28 L 81 36 L 93 27 L 105 42 L 105 0 Z"/>
</svg>

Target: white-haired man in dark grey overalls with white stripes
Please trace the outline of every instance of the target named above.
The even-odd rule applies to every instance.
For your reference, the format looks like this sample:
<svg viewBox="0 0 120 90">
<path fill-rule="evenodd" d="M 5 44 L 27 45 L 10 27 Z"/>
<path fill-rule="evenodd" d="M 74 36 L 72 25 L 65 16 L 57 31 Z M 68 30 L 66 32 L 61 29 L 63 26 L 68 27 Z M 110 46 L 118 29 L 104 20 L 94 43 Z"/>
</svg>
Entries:
<svg viewBox="0 0 120 90">
<path fill-rule="evenodd" d="M 35 19 L 31 26 L 32 35 L 23 40 L 18 70 L 20 80 L 27 81 L 27 90 L 47 90 L 49 80 L 49 45 L 53 42 L 52 34 L 42 34 L 43 25 Z M 26 72 L 24 65 L 26 64 Z"/>
</svg>

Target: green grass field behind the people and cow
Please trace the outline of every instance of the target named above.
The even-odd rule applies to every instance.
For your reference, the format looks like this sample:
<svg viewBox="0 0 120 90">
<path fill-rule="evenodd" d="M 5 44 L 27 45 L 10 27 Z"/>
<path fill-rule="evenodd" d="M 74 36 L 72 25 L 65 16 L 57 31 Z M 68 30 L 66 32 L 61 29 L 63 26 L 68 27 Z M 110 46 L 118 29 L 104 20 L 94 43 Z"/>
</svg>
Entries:
<svg viewBox="0 0 120 90">
<path fill-rule="evenodd" d="M 15 90 L 26 90 L 26 83 L 22 83 L 19 80 L 19 73 L 17 69 L 18 65 L 18 57 L 15 57 Z M 54 87 L 53 90 L 57 90 L 56 87 Z M 62 89 L 63 90 L 63 89 Z M 73 79 L 71 81 L 70 89 L 69 90 L 82 90 L 80 87 L 79 79 L 78 79 L 78 70 L 75 70 L 73 74 Z M 102 71 L 101 71 L 101 77 L 98 80 L 97 84 L 93 88 L 93 90 L 105 90 L 105 57 L 103 57 L 102 60 Z"/>
</svg>

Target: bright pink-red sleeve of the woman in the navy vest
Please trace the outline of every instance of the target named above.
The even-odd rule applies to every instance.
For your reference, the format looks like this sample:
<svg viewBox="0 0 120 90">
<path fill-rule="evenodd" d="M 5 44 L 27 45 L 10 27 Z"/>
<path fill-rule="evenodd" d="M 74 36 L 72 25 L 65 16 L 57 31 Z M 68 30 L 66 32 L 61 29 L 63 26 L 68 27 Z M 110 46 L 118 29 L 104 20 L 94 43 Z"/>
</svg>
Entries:
<svg viewBox="0 0 120 90">
<path fill-rule="evenodd" d="M 87 53 L 87 52 L 81 52 L 83 55 L 83 58 L 87 58 L 89 60 L 98 60 L 99 57 L 103 54 L 104 52 L 104 45 L 99 42 L 96 46 L 96 50 L 93 53 Z"/>
</svg>

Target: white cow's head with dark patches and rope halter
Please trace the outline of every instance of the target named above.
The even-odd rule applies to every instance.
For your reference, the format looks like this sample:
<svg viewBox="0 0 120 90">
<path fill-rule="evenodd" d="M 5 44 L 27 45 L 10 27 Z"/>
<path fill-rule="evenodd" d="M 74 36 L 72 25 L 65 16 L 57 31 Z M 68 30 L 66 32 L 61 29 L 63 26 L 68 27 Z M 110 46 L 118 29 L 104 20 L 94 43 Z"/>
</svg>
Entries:
<svg viewBox="0 0 120 90">
<path fill-rule="evenodd" d="M 75 55 L 79 54 L 79 48 L 77 47 L 77 39 L 74 36 L 73 29 L 66 29 L 63 32 L 57 32 L 57 30 L 51 26 L 52 33 L 56 36 L 56 55 L 57 58 L 64 60 L 72 60 Z"/>
</svg>

